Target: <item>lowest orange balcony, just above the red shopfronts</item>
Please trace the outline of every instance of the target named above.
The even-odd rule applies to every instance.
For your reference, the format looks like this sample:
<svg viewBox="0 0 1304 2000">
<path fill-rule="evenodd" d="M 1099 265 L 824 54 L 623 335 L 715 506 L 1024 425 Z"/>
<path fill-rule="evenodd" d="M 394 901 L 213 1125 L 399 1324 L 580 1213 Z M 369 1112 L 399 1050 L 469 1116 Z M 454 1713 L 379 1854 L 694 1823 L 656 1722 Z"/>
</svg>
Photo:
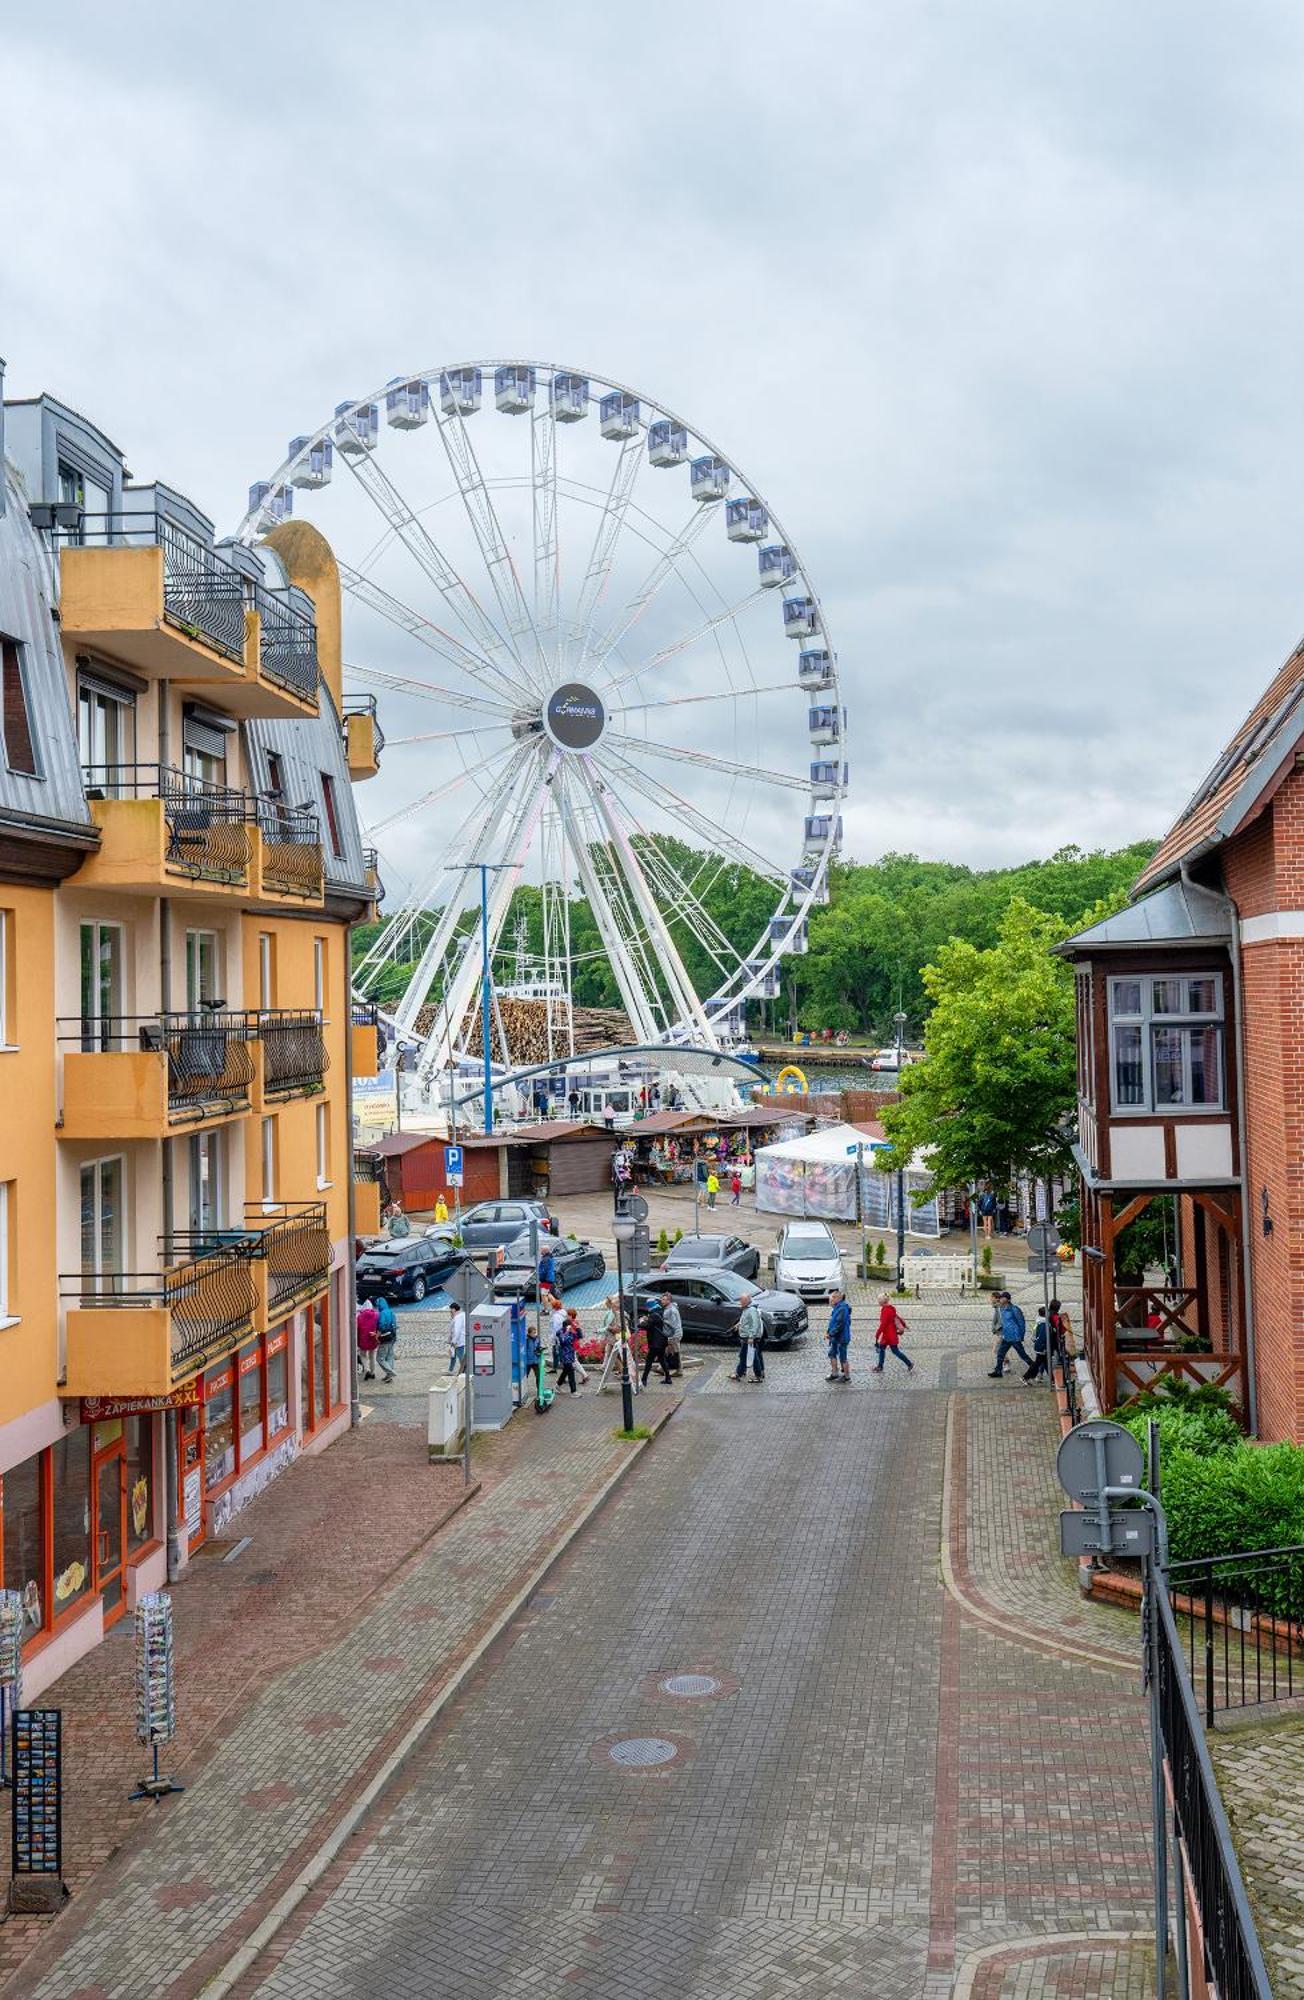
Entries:
<svg viewBox="0 0 1304 2000">
<path fill-rule="evenodd" d="M 60 1276 L 66 1396 L 170 1396 L 254 1334 L 260 1290 L 250 1238 L 196 1254 L 170 1250 L 158 1272 Z"/>
</svg>

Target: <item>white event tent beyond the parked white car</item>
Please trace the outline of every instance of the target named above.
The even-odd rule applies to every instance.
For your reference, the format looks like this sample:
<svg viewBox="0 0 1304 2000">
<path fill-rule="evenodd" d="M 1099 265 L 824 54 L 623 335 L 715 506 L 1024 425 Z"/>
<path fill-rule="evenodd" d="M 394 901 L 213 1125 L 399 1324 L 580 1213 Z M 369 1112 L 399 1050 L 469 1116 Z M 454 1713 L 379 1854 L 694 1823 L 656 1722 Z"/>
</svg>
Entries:
<svg viewBox="0 0 1304 2000">
<path fill-rule="evenodd" d="M 818 1216 L 824 1222 L 856 1222 L 896 1228 L 896 1174 L 876 1166 L 886 1138 L 874 1138 L 850 1124 L 824 1126 L 806 1138 L 784 1138 L 756 1152 L 756 1208 L 772 1216 Z M 856 1206 L 856 1162 L 862 1162 Z M 940 1236 L 938 1198 L 922 1154 L 906 1170 L 906 1230 L 910 1236 Z M 928 1200 L 912 1196 L 928 1188 Z"/>
</svg>

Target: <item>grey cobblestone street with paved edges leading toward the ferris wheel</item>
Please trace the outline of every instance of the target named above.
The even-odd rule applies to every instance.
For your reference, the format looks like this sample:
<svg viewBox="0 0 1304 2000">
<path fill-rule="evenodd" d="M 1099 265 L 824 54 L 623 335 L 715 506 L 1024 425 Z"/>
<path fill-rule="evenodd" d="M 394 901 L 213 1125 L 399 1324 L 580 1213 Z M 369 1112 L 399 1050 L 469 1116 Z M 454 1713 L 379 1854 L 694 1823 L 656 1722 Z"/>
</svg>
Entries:
<svg viewBox="0 0 1304 2000">
<path fill-rule="evenodd" d="M 916 1374 L 860 1320 L 850 1392 L 818 1338 L 764 1386 L 700 1350 L 618 1484 L 592 1392 L 478 1446 L 8 1990 L 1140 2000 L 1134 1624 L 1054 1556 L 1050 1398 L 986 1380 L 986 1306 L 906 1316 Z M 372 1464 L 438 1338 L 366 1384 Z"/>
</svg>

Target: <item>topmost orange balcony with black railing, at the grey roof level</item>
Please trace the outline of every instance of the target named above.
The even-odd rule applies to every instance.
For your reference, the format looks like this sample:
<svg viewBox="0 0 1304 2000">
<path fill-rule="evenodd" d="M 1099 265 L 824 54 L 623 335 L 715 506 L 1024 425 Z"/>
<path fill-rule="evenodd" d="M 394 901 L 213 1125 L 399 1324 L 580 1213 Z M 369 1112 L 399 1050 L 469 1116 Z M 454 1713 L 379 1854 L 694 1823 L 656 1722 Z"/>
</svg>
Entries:
<svg viewBox="0 0 1304 2000">
<path fill-rule="evenodd" d="M 220 692 L 232 714 L 318 712 L 316 624 L 166 514 L 54 530 L 64 636 L 148 680 Z"/>
</svg>

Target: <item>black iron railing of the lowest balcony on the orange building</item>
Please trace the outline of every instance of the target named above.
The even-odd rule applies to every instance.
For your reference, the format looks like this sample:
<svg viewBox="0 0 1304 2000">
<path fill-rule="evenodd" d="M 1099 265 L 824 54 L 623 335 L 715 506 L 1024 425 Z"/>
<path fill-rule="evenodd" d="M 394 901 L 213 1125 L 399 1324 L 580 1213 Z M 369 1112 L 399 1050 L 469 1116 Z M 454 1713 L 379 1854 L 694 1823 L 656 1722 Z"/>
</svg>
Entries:
<svg viewBox="0 0 1304 2000">
<path fill-rule="evenodd" d="M 198 1248 L 174 1238 L 162 1270 L 64 1272 L 60 1296 L 68 1306 L 164 1306 L 172 1316 L 170 1362 L 178 1376 L 228 1352 L 252 1332 L 252 1240 L 244 1234 L 234 1242 L 210 1238 Z"/>
</svg>

